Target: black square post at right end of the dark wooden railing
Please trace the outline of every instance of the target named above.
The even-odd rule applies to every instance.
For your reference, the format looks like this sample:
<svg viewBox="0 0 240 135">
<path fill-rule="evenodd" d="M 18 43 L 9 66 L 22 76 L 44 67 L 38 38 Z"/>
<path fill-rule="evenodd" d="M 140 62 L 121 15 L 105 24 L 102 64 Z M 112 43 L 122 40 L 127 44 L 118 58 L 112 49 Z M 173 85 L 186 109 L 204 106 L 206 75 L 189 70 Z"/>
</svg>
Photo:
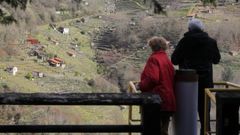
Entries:
<svg viewBox="0 0 240 135">
<path fill-rule="evenodd" d="M 160 105 L 144 105 L 142 113 L 142 135 L 161 135 L 161 111 Z"/>
</svg>

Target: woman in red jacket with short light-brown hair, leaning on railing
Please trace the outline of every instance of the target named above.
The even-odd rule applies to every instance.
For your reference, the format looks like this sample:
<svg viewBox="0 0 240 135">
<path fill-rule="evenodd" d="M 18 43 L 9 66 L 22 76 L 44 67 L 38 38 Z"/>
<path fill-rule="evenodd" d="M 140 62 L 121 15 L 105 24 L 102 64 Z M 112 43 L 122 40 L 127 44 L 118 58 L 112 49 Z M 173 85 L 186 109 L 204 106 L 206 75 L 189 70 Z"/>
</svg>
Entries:
<svg viewBox="0 0 240 135">
<path fill-rule="evenodd" d="M 168 48 L 168 41 L 165 38 L 153 37 L 149 40 L 148 45 L 152 49 L 152 54 L 141 74 L 139 89 L 142 92 L 155 93 L 161 97 L 162 104 L 159 114 L 161 116 L 161 135 L 168 135 L 169 120 L 173 112 L 176 111 L 173 90 L 174 67 L 165 52 Z M 151 112 L 145 111 L 143 113 L 153 116 Z"/>
</svg>

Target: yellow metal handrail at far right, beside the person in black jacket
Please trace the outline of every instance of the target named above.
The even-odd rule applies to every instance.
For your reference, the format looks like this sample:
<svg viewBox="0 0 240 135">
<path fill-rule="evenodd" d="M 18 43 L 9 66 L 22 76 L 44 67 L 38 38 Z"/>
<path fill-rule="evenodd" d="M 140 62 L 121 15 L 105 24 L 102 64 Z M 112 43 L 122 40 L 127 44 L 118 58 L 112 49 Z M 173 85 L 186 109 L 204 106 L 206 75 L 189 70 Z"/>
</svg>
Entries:
<svg viewBox="0 0 240 135">
<path fill-rule="evenodd" d="M 232 92 L 232 91 L 240 91 L 240 85 L 231 83 L 231 82 L 214 82 L 214 86 L 216 85 L 222 85 L 225 86 L 225 88 L 206 88 L 205 89 L 205 101 L 204 101 L 204 133 L 208 135 L 209 132 L 213 133 L 212 131 L 207 131 L 208 122 L 207 119 L 209 118 L 209 113 L 207 110 L 209 110 L 208 102 L 212 101 L 214 104 L 216 104 L 216 98 L 213 92 Z M 232 88 L 229 88 L 232 87 Z"/>
</svg>

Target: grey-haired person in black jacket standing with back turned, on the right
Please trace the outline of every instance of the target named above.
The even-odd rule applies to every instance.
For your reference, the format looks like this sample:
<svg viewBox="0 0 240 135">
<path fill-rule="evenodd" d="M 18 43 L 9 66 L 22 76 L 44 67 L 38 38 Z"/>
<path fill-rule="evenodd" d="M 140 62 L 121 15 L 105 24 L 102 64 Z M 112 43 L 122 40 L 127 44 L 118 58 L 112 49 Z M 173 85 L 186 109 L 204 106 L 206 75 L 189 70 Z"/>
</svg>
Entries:
<svg viewBox="0 0 240 135">
<path fill-rule="evenodd" d="M 200 20 L 190 20 L 188 29 L 176 46 L 171 60 L 174 65 L 179 65 L 179 69 L 195 69 L 198 73 L 198 113 L 200 132 L 204 135 L 204 89 L 213 87 L 212 64 L 218 64 L 221 55 L 216 40 L 203 31 L 204 26 Z"/>
</svg>

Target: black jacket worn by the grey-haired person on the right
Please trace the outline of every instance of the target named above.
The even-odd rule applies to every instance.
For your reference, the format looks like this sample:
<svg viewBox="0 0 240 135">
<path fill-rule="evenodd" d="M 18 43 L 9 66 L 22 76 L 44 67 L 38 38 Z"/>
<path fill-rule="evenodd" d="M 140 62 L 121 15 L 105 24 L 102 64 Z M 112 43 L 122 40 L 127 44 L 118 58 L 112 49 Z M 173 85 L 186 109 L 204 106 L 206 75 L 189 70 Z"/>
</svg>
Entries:
<svg viewBox="0 0 240 135">
<path fill-rule="evenodd" d="M 212 64 L 219 63 L 220 59 L 216 40 L 201 30 L 186 32 L 171 57 L 172 63 L 180 69 L 195 69 L 205 88 L 212 87 Z"/>
</svg>

